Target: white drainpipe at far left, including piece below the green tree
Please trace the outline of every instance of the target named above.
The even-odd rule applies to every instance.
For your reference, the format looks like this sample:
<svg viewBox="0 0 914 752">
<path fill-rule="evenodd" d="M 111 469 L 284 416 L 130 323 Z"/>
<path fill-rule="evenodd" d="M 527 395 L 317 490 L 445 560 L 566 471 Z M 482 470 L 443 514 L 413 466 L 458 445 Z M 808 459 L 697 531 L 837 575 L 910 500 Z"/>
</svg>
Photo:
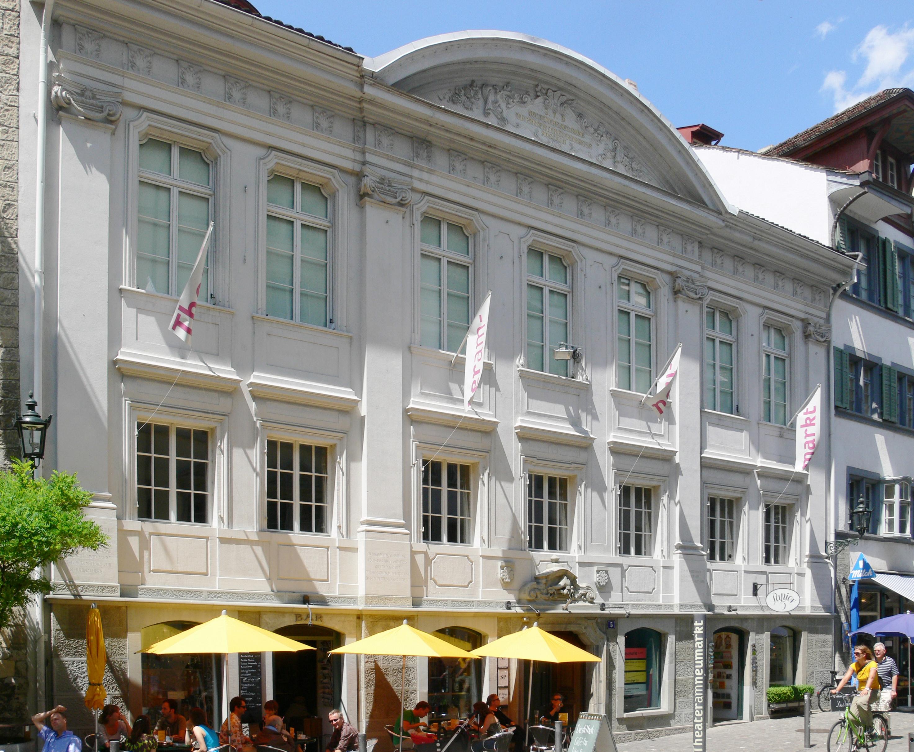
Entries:
<svg viewBox="0 0 914 752">
<path fill-rule="evenodd" d="M 38 48 L 38 106 L 35 159 L 35 322 L 33 330 L 33 371 L 32 390 L 38 404 L 42 404 L 42 356 L 44 348 L 45 314 L 45 162 L 48 152 L 48 38 L 51 17 L 54 15 L 54 0 L 45 0 L 41 14 L 41 42 Z M 37 596 L 36 603 L 39 637 L 36 643 L 37 707 L 48 707 L 48 609 L 44 595 Z M 46 637 L 47 636 L 47 637 Z"/>
</svg>

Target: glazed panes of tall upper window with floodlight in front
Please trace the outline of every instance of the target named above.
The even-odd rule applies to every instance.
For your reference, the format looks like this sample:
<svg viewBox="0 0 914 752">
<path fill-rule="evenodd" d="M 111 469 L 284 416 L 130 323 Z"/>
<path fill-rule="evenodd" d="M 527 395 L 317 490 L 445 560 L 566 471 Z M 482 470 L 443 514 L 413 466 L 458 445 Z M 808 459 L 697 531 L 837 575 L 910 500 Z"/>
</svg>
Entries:
<svg viewBox="0 0 914 752">
<path fill-rule="evenodd" d="M 555 253 L 526 252 L 526 365 L 535 371 L 569 375 L 569 361 L 553 352 L 569 342 L 569 265 Z"/>
</svg>

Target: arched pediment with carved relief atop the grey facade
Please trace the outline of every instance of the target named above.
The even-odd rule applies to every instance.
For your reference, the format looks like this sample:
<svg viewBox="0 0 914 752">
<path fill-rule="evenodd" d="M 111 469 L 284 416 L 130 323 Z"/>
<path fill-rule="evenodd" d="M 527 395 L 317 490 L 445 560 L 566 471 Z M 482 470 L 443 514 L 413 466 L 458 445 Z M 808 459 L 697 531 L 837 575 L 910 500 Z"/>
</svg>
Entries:
<svg viewBox="0 0 914 752">
<path fill-rule="evenodd" d="M 367 58 L 388 86 L 717 211 L 728 204 L 675 127 L 611 71 L 503 31 L 429 37 Z"/>
</svg>

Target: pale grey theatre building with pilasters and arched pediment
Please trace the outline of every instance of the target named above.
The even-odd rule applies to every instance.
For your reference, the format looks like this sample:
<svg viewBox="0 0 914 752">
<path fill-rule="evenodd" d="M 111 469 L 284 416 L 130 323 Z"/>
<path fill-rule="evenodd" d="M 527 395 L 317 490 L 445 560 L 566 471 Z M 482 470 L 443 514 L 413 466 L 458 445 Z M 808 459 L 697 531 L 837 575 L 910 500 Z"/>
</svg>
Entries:
<svg viewBox="0 0 914 752">
<path fill-rule="evenodd" d="M 560 691 L 620 739 L 689 726 L 696 611 L 718 721 L 824 680 L 826 458 L 794 473 L 787 424 L 827 379 L 815 333 L 851 261 L 737 213 L 568 49 L 462 32 L 362 58 L 230 5 L 55 5 L 42 468 L 79 471 L 112 543 L 54 570 L 50 701 L 81 706 L 90 600 L 133 715 L 213 711 L 217 661 L 140 651 L 228 609 L 319 648 L 246 659 L 252 709 L 319 732 L 343 704 L 382 747 L 399 659 L 363 682 L 324 651 L 403 619 L 473 646 L 538 609 L 603 661 L 537 664 L 535 702 Z M 29 97 L 37 45 L 30 16 Z M 185 346 L 169 326 L 210 219 Z M 453 353 L 490 290 L 464 414 Z M 658 418 L 643 393 L 677 343 Z M 788 616 L 764 604 L 779 586 Z M 524 715 L 523 662 L 407 669 L 410 703 L 500 692 Z"/>
</svg>

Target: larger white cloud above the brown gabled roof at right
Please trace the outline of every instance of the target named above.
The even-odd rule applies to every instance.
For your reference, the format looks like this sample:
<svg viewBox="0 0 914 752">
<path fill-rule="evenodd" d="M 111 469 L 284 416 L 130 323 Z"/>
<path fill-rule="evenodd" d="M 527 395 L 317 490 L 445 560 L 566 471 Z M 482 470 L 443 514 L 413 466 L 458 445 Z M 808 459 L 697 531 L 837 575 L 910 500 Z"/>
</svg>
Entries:
<svg viewBox="0 0 914 752">
<path fill-rule="evenodd" d="M 912 52 L 914 28 L 909 28 L 906 24 L 892 32 L 886 26 L 874 26 L 851 56 L 854 62 L 864 64 L 864 70 L 856 82 L 848 87 L 845 70 L 830 70 L 825 74 L 821 90 L 832 94 L 834 111 L 837 112 L 877 91 L 914 86 L 914 65 L 906 68 Z"/>
</svg>

